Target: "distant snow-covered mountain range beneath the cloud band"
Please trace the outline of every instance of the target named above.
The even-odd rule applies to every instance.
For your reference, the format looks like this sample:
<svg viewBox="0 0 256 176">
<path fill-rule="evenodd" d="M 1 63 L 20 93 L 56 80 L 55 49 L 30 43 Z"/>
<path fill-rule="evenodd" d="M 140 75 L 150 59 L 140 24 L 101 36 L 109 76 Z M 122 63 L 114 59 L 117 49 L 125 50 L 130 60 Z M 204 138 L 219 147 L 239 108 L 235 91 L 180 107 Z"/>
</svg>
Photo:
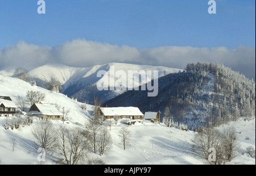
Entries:
<svg viewBox="0 0 256 176">
<path fill-rule="evenodd" d="M 169 73 L 177 73 L 182 71 L 181 69 L 168 68 L 164 66 L 150 66 L 150 65 L 136 65 L 136 64 L 123 64 L 123 63 L 110 63 L 104 65 L 94 65 L 88 68 L 75 68 L 71 66 L 61 65 L 61 64 L 47 64 L 40 66 L 38 68 L 30 70 L 31 80 L 36 81 L 36 85 L 46 88 L 46 83 L 52 78 L 56 79 L 63 86 L 61 93 L 68 95 L 68 97 L 76 98 L 80 102 L 87 101 L 91 103 L 93 101 L 93 95 L 96 94 L 98 98 L 102 99 L 103 102 L 112 99 L 124 91 L 98 91 L 97 82 L 107 80 L 110 76 L 110 67 L 114 68 L 116 73 L 118 70 L 122 70 L 128 75 L 128 71 L 138 71 L 143 70 L 158 70 L 158 77 L 162 77 Z M 106 71 L 108 76 L 97 77 L 97 73 L 100 70 Z M 2 70 L 2 74 L 7 74 L 12 76 L 15 69 L 5 69 Z M 115 78 L 117 79 L 117 78 Z M 128 81 L 128 80 L 127 80 Z M 141 85 L 141 82 L 136 82 Z"/>
</svg>

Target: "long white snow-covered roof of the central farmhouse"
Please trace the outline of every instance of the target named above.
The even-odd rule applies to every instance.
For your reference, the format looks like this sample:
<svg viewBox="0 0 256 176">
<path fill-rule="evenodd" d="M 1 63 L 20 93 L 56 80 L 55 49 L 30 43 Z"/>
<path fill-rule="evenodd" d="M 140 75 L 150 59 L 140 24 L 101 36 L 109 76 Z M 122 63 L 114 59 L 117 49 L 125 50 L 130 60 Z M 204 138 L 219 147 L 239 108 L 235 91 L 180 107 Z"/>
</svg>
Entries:
<svg viewBox="0 0 256 176">
<path fill-rule="evenodd" d="M 105 116 L 143 116 L 138 107 L 101 107 L 101 111 Z"/>
</svg>

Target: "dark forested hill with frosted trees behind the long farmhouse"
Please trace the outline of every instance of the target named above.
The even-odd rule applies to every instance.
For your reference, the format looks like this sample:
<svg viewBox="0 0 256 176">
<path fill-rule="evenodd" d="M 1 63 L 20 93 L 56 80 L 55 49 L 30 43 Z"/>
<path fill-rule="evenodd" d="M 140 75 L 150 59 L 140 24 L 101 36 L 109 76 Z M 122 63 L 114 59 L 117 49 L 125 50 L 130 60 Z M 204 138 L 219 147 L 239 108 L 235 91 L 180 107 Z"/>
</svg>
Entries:
<svg viewBox="0 0 256 176">
<path fill-rule="evenodd" d="M 143 112 L 161 111 L 167 125 L 189 129 L 218 126 L 237 118 L 255 116 L 255 82 L 224 65 L 187 64 L 184 72 L 159 78 L 158 96 L 127 91 L 108 106 L 136 106 Z"/>
</svg>

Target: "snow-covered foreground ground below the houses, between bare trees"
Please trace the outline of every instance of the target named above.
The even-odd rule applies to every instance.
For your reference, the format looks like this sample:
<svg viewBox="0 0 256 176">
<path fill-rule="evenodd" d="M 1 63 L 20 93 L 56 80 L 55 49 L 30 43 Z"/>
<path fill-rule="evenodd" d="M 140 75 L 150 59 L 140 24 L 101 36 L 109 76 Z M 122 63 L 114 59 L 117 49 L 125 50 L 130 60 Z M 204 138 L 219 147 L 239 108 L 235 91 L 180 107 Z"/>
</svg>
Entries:
<svg viewBox="0 0 256 176">
<path fill-rule="evenodd" d="M 0 123 L 3 123 L 3 119 Z M 75 124 L 63 124 L 61 121 L 53 121 L 55 125 L 75 126 Z M 143 121 L 135 125 L 126 125 L 131 132 L 130 146 L 123 150 L 118 132 L 122 124 L 112 124 L 111 135 L 112 149 L 103 156 L 88 152 L 89 158 L 100 158 L 109 165 L 200 165 L 204 160 L 198 153 L 192 150 L 191 139 L 195 135 L 192 131 L 181 131 L 177 128 L 169 128 L 164 125 Z M 237 128 L 240 150 L 236 158 L 228 164 L 255 165 L 255 158 L 246 154 L 246 147 L 255 149 L 255 119 L 244 121 L 243 119 L 232 123 Z M 0 160 L 2 164 L 34 165 L 38 163 L 35 138 L 31 127 L 19 129 L 4 129 L 0 127 Z M 246 140 L 246 137 L 249 139 Z M 15 139 L 16 145 L 13 151 L 11 141 Z M 47 152 L 47 151 L 46 151 Z M 55 164 L 60 154 L 53 150 L 47 153 L 47 164 Z"/>
</svg>

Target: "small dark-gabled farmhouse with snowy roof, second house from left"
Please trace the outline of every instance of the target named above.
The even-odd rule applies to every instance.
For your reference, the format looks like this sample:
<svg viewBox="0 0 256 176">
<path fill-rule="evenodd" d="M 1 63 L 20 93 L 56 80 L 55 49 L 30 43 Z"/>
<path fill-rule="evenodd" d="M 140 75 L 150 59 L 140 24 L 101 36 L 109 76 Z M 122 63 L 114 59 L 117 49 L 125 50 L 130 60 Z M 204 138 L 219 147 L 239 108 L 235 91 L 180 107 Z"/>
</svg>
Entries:
<svg viewBox="0 0 256 176">
<path fill-rule="evenodd" d="M 63 114 L 54 104 L 34 103 L 27 112 L 28 116 L 37 116 L 44 120 L 63 120 Z"/>
</svg>

